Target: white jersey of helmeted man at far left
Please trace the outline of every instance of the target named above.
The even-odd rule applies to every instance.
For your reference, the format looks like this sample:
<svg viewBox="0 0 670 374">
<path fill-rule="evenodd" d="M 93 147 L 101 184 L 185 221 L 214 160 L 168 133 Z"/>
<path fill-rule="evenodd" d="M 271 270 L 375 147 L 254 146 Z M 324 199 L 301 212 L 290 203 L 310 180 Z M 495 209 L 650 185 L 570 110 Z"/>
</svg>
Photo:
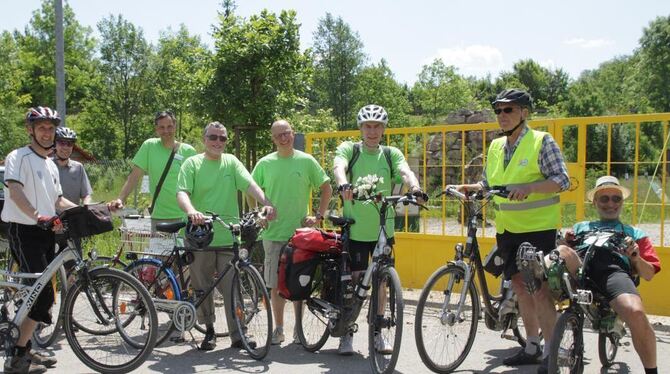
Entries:
<svg viewBox="0 0 670 374">
<path fill-rule="evenodd" d="M 56 200 L 63 194 L 58 177 L 58 167 L 52 159 L 42 157 L 30 147 L 15 149 L 5 159 L 5 182 L 18 182 L 23 193 L 38 214 L 53 216 L 56 214 Z M 5 206 L 2 220 L 24 225 L 35 225 L 34 217 L 27 216 L 14 203 L 9 188 L 5 189 Z"/>
</svg>

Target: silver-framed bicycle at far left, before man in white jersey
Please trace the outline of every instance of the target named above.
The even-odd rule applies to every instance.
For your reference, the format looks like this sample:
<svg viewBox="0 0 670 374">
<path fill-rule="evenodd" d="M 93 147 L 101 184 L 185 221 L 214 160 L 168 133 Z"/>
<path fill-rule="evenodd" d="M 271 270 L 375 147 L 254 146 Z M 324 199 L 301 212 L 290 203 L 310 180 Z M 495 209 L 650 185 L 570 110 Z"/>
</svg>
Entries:
<svg viewBox="0 0 670 374">
<path fill-rule="evenodd" d="M 147 359 L 156 342 L 156 310 L 142 284 L 123 271 L 91 268 L 82 260 L 70 232 L 70 221 L 86 207 L 75 207 L 58 215 L 68 246 L 41 273 L 0 270 L 0 348 L 11 356 L 19 338 L 19 326 L 38 295 L 67 261 L 75 261 L 74 284 L 63 301 L 63 327 L 74 354 L 89 368 L 104 373 L 126 373 Z M 55 218 L 44 225 L 53 226 Z M 82 235 L 75 235 L 80 237 Z M 95 253 L 92 254 L 95 258 Z M 25 285 L 20 280 L 33 280 Z M 135 323 L 133 323 L 135 322 Z M 104 329 L 104 335 L 86 331 Z M 104 336 L 104 338 L 100 338 Z"/>
</svg>

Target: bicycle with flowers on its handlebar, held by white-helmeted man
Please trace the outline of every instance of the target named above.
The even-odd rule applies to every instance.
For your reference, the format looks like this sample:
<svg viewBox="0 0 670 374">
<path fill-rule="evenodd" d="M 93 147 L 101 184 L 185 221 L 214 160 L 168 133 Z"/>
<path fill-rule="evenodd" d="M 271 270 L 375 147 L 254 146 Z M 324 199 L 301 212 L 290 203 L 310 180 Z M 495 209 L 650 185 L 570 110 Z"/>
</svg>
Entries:
<svg viewBox="0 0 670 374">
<path fill-rule="evenodd" d="M 307 351 L 316 352 L 323 347 L 329 336 L 342 337 L 356 332 L 356 319 L 367 299 L 368 290 L 372 288 L 367 316 L 370 364 L 375 373 L 390 373 L 395 368 L 400 352 L 404 303 L 400 278 L 394 268 L 392 247 L 387 242 L 386 213 L 389 208 L 393 209 L 399 203 L 422 205 L 411 194 L 385 197 L 377 195 L 360 201 L 380 204 L 380 228 L 372 261 L 354 287 L 348 270 L 348 238 L 350 227 L 355 221 L 346 217 L 328 217 L 342 232 L 342 248 L 341 251 L 319 254 L 311 294 L 304 302 L 309 313 L 305 312 L 305 308 L 299 308 L 296 316 L 298 339 Z M 381 302 L 385 305 L 380 305 Z M 378 311 L 384 312 L 383 317 L 378 318 Z M 376 349 L 377 335 L 393 342 L 391 353 Z"/>
</svg>

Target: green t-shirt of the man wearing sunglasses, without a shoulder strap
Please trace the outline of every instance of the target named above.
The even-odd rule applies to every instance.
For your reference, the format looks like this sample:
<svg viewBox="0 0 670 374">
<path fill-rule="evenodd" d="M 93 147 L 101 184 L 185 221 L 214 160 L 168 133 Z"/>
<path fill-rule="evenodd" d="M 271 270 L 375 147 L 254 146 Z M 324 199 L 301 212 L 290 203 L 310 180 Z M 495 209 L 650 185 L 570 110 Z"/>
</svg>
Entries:
<svg viewBox="0 0 670 374">
<path fill-rule="evenodd" d="M 201 213 L 217 213 L 227 223 L 239 222 L 237 191 L 246 192 L 253 182 L 240 160 L 224 153 L 221 160 L 208 160 L 201 153 L 186 160 L 179 171 L 177 191 L 190 195 L 191 204 Z M 233 236 L 226 227 L 214 223 L 213 247 L 233 245 Z"/>
</svg>

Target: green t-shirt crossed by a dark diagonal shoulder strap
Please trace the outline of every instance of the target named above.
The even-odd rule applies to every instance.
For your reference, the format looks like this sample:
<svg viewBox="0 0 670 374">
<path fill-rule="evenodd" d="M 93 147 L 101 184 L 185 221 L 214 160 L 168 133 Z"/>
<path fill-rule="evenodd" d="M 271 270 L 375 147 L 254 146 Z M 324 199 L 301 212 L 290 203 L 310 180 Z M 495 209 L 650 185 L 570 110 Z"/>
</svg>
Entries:
<svg viewBox="0 0 670 374">
<path fill-rule="evenodd" d="M 149 175 L 149 190 L 152 197 L 156 191 L 158 181 L 163 175 L 167 160 L 170 158 L 170 153 L 172 153 L 172 149 L 165 148 L 160 138 L 151 138 L 142 143 L 133 158 L 133 164 Z M 174 155 L 170 170 L 165 176 L 163 186 L 158 193 L 154 211 L 151 215 L 152 218 L 175 219 L 184 217 L 184 212 L 177 205 L 177 175 L 184 160 L 195 154 L 195 148 L 186 143 L 179 143 L 179 149 Z"/>
</svg>

